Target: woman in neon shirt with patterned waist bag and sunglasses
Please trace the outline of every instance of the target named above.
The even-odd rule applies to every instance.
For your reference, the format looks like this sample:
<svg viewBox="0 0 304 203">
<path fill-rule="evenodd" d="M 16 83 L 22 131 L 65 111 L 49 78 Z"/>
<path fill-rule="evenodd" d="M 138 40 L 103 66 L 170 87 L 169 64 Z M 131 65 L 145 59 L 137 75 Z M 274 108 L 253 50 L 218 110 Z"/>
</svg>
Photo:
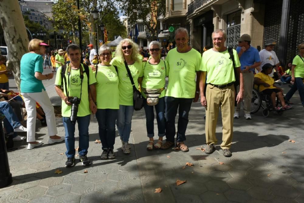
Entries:
<svg viewBox="0 0 304 203">
<path fill-rule="evenodd" d="M 144 105 L 146 112 L 147 135 L 149 142 L 147 150 L 151 151 L 154 145 L 154 111 L 156 110 L 156 121 L 158 128 L 158 141 L 154 145 L 155 149 L 159 149 L 165 135 L 165 77 L 168 76 L 169 65 L 166 61 L 160 59 L 161 44 L 152 41 L 149 44 L 149 53 L 151 58 L 143 63 L 143 78 L 140 78 L 141 93 L 147 99 Z M 142 80 L 142 81 L 141 81 Z"/>
</svg>

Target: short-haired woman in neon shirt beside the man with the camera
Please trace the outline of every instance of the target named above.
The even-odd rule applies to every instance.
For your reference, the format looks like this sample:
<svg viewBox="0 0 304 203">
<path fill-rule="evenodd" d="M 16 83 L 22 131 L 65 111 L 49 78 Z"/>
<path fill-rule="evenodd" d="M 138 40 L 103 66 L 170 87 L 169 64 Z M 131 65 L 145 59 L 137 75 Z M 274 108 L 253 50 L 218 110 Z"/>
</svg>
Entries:
<svg viewBox="0 0 304 203">
<path fill-rule="evenodd" d="M 101 159 L 114 159 L 115 122 L 119 109 L 118 76 L 111 62 L 111 48 L 102 45 L 98 50 L 101 63 L 96 76 L 96 102 L 99 138 L 102 144 Z"/>
</svg>

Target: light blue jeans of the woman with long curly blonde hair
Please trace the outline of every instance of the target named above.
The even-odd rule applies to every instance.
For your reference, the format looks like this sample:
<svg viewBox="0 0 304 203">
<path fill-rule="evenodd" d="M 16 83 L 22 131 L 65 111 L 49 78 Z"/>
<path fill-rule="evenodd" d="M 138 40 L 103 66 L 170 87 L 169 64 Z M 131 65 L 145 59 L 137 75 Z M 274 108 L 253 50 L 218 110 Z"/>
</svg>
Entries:
<svg viewBox="0 0 304 203">
<path fill-rule="evenodd" d="M 119 105 L 116 125 L 123 142 L 129 142 L 133 111 L 133 106 Z"/>
</svg>

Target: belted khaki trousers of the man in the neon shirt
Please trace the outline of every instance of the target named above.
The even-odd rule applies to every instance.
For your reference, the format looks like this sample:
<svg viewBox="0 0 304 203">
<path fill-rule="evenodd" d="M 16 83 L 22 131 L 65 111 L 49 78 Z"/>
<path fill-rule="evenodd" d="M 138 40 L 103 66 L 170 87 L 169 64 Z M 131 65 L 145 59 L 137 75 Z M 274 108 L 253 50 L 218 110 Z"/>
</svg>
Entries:
<svg viewBox="0 0 304 203">
<path fill-rule="evenodd" d="M 219 108 L 221 108 L 223 122 L 223 142 L 221 144 L 221 148 L 230 149 L 233 137 L 233 110 L 235 100 L 234 86 L 231 85 L 229 87 L 219 89 L 208 84 L 206 100 L 206 143 L 211 145 L 217 142 L 215 130 Z"/>
</svg>

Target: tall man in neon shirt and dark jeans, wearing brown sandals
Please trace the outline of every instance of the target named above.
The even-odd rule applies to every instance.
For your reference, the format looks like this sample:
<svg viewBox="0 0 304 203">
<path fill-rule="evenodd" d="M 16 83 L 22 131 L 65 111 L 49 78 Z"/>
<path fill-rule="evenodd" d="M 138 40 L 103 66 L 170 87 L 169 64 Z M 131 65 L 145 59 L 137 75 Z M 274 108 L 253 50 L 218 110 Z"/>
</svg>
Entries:
<svg viewBox="0 0 304 203">
<path fill-rule="evenodd" d="M 188 125 L 188 114 L 192 101 L 199 99 L 199 78 L 201 54 L 188 45 L 189 35 L 185 28 L 175 31 L 176 48 L 168 52 L 166 60 L 169 68 L 169 83 L 165 94 L 166 142 L 161 149 L 169 149 L 174 145 L 175 116 L 179 108 L 177 146 L 182 152 L 188 152 L 184 144 Z"/>
</svg>

